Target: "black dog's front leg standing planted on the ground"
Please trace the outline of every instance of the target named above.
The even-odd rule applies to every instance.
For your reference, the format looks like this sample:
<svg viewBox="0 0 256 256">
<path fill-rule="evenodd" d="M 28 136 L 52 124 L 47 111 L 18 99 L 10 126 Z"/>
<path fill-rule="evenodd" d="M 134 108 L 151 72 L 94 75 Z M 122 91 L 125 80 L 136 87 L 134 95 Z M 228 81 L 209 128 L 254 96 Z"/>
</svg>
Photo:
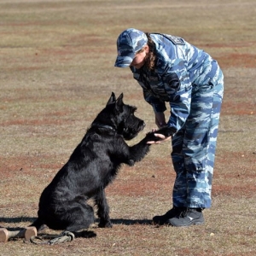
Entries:
<svg viewBox="0 0 256 256">
<path fill-rule="evenodd" d="M 101 189 L 95 198 L 96 206 L 98 207 L 97 215 L 100 218 L 100 228 L 112 228 L 112 223 L 109 218 L 109 207 L 106 199 L 105 190 Z"/>
</svg>

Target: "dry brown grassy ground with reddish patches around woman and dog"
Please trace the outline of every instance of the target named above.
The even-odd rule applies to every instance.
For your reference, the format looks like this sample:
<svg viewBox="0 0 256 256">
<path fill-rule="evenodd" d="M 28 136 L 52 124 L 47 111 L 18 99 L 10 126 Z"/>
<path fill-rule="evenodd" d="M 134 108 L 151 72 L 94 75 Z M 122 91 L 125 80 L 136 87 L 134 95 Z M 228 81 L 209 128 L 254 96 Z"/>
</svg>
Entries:
<svg viewBox="0 0 256 256">
<path fill-rule="evenodd" d="M 129 70 L 113 67 L 125 28 L 183 37 L 217 59 L 225 76 L 206 224 L 151 223 L 172 207 L 172 148 L 165 143 L 136 166 L 123 166 L 108 187 L 113 229 L 94 226 L 96 238 L 52 247 L 9 241 L 0 255 L 256 255 L 254 0 L 0 0 L 0 17 L 0 226 L 9 229 L 36 218 L 39 195 L 111 91 L 124 92 L 146 121 L 131 143 L 154 127 Z"/>
</svg>

